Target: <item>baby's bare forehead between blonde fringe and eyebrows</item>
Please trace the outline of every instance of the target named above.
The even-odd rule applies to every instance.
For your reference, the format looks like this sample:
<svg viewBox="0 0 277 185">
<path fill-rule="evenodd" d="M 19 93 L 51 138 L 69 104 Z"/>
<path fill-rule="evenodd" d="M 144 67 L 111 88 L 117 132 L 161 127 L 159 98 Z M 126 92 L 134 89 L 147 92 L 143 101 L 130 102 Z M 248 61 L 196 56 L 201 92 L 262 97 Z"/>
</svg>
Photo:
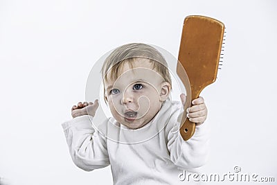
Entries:
<svg viewBox="0 0 277 185">
<path fill-rule="evenodd" d="M 127 86 L 132 82 L 143 81 L 154 85 L 161 81 L 161 75 L 153 69 L 153 62 L 147 58 L 136 58 L 132 64 L 124 62 L 118 68 L 118 78 L 112 78 L 111 70 L 107 73 L 107 80 L 105 80 L 105 87 L 116 85 Z"/>
</svg>

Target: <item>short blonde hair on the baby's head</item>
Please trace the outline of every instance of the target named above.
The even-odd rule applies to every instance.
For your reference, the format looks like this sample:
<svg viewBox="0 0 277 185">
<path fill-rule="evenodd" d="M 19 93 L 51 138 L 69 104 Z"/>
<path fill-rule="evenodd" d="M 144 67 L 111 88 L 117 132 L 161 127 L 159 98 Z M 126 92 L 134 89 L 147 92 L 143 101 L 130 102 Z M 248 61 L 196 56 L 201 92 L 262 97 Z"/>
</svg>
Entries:
<svg viewBox="0 0 277 185">
<path fill-rule="evenodd" d="M 150 60 L 153 64 L 153 69 L 170 84 L 171 89 L 172 81 L 168 71 L 168 63 L 166 62 L 166 59 L 163 58 L 163 55 L 161 55 L 157 49 L 154 49 L 154 47 L 142 43 L 125 44 L 112 51 L 102 65 L 102 79 L 107 80 L 107 73 L 109 71 L 111 72 L 111 78 L 117 79 L 118 71 L 120 71 L 121 67 L 123 67 L 123 64 L 127 62 L 131 67 L 133 67 L 132 64 L 136 62 L 136 58 L 148 58 L 148 60 Z"/>
</svg>

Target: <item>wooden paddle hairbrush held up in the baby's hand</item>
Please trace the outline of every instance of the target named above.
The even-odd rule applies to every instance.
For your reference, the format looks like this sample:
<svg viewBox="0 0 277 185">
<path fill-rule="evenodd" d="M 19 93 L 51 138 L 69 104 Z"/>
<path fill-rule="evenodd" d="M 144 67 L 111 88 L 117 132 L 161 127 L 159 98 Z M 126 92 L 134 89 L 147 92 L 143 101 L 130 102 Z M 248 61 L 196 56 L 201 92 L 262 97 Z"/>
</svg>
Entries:
<svg viewBox="0 0 277 185">
<path fill-rule="evenodd" d="M 198 98 L 206 86 L 215 82 L 223 38 L 224 24 L 216 19 L 192 15 L 184 20 L 177 74 L 185 87 L 189 80 L 191 92 L 186 88 L 187 96 L 191 96 L 189 100 Z M 188 80 L 184 76 L 184 70 Z M 190 102 L 189 106 L 191 106 Z M 180 134 L 187 141 L 194 132 L 195 123 L 186 118 L 185 109 L 181 118 Z"/>
</svg>

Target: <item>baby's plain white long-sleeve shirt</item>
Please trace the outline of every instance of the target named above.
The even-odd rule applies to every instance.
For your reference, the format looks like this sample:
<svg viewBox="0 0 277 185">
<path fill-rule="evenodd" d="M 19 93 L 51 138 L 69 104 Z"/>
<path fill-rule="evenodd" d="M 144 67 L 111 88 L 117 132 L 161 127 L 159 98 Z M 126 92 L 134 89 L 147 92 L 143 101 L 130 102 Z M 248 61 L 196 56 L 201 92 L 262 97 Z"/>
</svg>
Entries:
<svg viewBox="0 0 277 185">
<path fill-rule="evenodd" d="M 179 174 L 206 163 L 208 123 L 184 141 L 179 134 L 181 103 L 166 101 L 147 125 L 129 130 L 114 118 L 98 127 L 92 116 L 62 124 L 73 162 L 83 170 L 111 164 L 114 184 L 186 184 Z M 193 182 L 194 184 L 195 182 Z"/>
</svg>

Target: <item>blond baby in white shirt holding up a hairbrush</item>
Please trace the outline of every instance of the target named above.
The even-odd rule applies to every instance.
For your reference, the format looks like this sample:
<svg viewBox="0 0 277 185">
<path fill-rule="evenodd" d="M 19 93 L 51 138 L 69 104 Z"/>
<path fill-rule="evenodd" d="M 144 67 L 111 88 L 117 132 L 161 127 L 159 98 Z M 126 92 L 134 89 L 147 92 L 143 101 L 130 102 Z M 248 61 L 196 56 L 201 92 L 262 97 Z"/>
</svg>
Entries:
<svg viewBox="0 0 277 185">
<path fill-rule="evenodd" d="M 184 141 L 179 126 L 186 96 L 171 100 L 170 73 L 157 49 L 139 43 L 118 47 L 106 58 L 102 79 L 112 117 L 98 127 L 91 124 L 95 100 L 74 105 L 73 119 L 62 124 L 75 165 L 90 171 L 111 164 L 114 184 L 185 184 L 178 175 L 203 166 L 208 155 L 204 99 L 186 110 L 197 126 Z"/>
</svg>

